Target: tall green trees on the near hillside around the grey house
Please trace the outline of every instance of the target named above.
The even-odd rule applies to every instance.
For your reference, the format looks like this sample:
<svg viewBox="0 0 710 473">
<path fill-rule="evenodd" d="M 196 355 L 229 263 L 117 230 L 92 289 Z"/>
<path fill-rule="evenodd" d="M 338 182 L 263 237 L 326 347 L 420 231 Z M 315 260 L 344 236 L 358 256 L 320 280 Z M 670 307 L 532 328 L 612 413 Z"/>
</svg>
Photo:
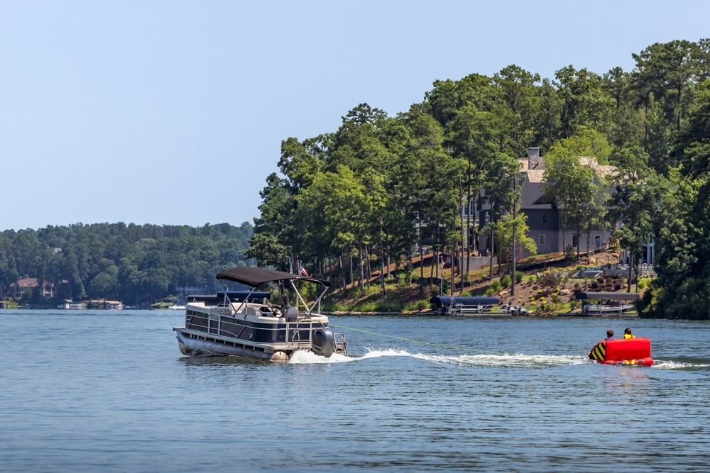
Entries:
<svg viewBox="0 0 710 473">
<path fill-rule="evenodd" d="M 570 65 L 547 79 L 510 65 L 438 80 L 396 116 L 360 104 L 337 130 L 283 140 L 246 255 L 364 289 L 391 262 L 408 267 L 425 238 L 436 257 L 457 252 L 472 225 L 461 209 L 484 205 L 490 219 L 474 231 L 490 235 L 492 252 L 532 252 L 517 159 L 537 147 L 566 227 L 581 236 L 621 222 L 615 237 L 636 261 L 655 242 L 658 277 L 642 313 L 708 318 L 710 39 L 632 57 L 628 72 Z M 617 171 L 602 179 L 579 157 Z M 611 201 L 601 191 L 610 187 Z"/>
</svg>

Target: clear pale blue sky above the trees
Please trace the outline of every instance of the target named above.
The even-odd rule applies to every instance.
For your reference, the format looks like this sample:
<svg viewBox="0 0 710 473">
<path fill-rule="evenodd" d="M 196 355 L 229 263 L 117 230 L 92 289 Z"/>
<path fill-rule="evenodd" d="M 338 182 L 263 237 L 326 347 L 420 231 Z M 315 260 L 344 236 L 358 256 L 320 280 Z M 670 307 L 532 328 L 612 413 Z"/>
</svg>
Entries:
<svg viewBox="0 0 710 473">
<path fill-rule="evenodd" d="M 0 230 L 239 225 L 280 142 L 436 79 L 634 67 L 710 1 L 0 0 Z"/>
</svg>

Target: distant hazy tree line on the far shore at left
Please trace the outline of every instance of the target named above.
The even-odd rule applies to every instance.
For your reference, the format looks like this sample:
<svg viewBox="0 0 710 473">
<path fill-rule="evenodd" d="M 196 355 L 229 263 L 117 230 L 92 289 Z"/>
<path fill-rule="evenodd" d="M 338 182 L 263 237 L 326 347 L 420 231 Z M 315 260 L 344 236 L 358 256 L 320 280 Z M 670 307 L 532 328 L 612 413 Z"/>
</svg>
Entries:
<svg viewBox="0 0 710 473">
<path fill-rule="evenodd" d="M 28 277 L 50 284 L 57 301 L 149 305 L 185 287 L 212 294 L 215 274 L 253 264 L 244 256 L 252 235 L 246 222 L 239 227 L 77 223 L 6 230 L 0 233 L 0 299 L 41 302 L 41 284 L 17 293 L 18 279 Z"/>
</svg>

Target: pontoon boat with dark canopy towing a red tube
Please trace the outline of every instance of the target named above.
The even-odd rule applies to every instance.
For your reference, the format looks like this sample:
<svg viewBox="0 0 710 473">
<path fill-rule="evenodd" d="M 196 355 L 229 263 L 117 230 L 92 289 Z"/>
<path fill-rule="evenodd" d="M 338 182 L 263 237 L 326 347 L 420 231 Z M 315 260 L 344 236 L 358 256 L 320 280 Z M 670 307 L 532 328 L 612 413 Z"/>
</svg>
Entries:
<svg viewBox="0 0 710 473">
<path fill-rule="evenodd" d="M 175 327 L 183 355 L 237 355 L 287 362 L 298 350 L 330 357 L 347 355 L 344 333 L 333 333 L 327 316 L 320 313 L 320 301 L 330 283 L 313 277 L 256 267 L 229 269 L 217 280 L 249 286 L 251 291 L 217 296 L 190 296 L 185 305 L 185 326 Z M 257 291 L 266 284 L 290 286 L 295 306 L 268 303 L 268 292 Z M 299 286 L 317 285 L 317 297 L 310 306 Z M 224 287 L 224 286 L 223 286 Z"/>
</svg>

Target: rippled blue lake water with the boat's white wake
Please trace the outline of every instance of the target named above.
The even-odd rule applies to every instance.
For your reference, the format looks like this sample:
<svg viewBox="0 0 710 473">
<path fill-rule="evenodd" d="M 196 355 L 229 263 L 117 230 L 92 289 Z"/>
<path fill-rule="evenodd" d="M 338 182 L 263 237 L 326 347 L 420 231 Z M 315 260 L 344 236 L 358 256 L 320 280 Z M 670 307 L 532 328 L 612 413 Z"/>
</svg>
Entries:
<svg viewBox="0 0 710 473">
<path fill-rule="evenodd" d="M 708 472 L 710 323 L 332 317 L 349 358 L 180 355 L 179 311 L 0 311 L 1 472 Z M 607 328 L 653 367 L 586 360 Z"/>
</svg>

